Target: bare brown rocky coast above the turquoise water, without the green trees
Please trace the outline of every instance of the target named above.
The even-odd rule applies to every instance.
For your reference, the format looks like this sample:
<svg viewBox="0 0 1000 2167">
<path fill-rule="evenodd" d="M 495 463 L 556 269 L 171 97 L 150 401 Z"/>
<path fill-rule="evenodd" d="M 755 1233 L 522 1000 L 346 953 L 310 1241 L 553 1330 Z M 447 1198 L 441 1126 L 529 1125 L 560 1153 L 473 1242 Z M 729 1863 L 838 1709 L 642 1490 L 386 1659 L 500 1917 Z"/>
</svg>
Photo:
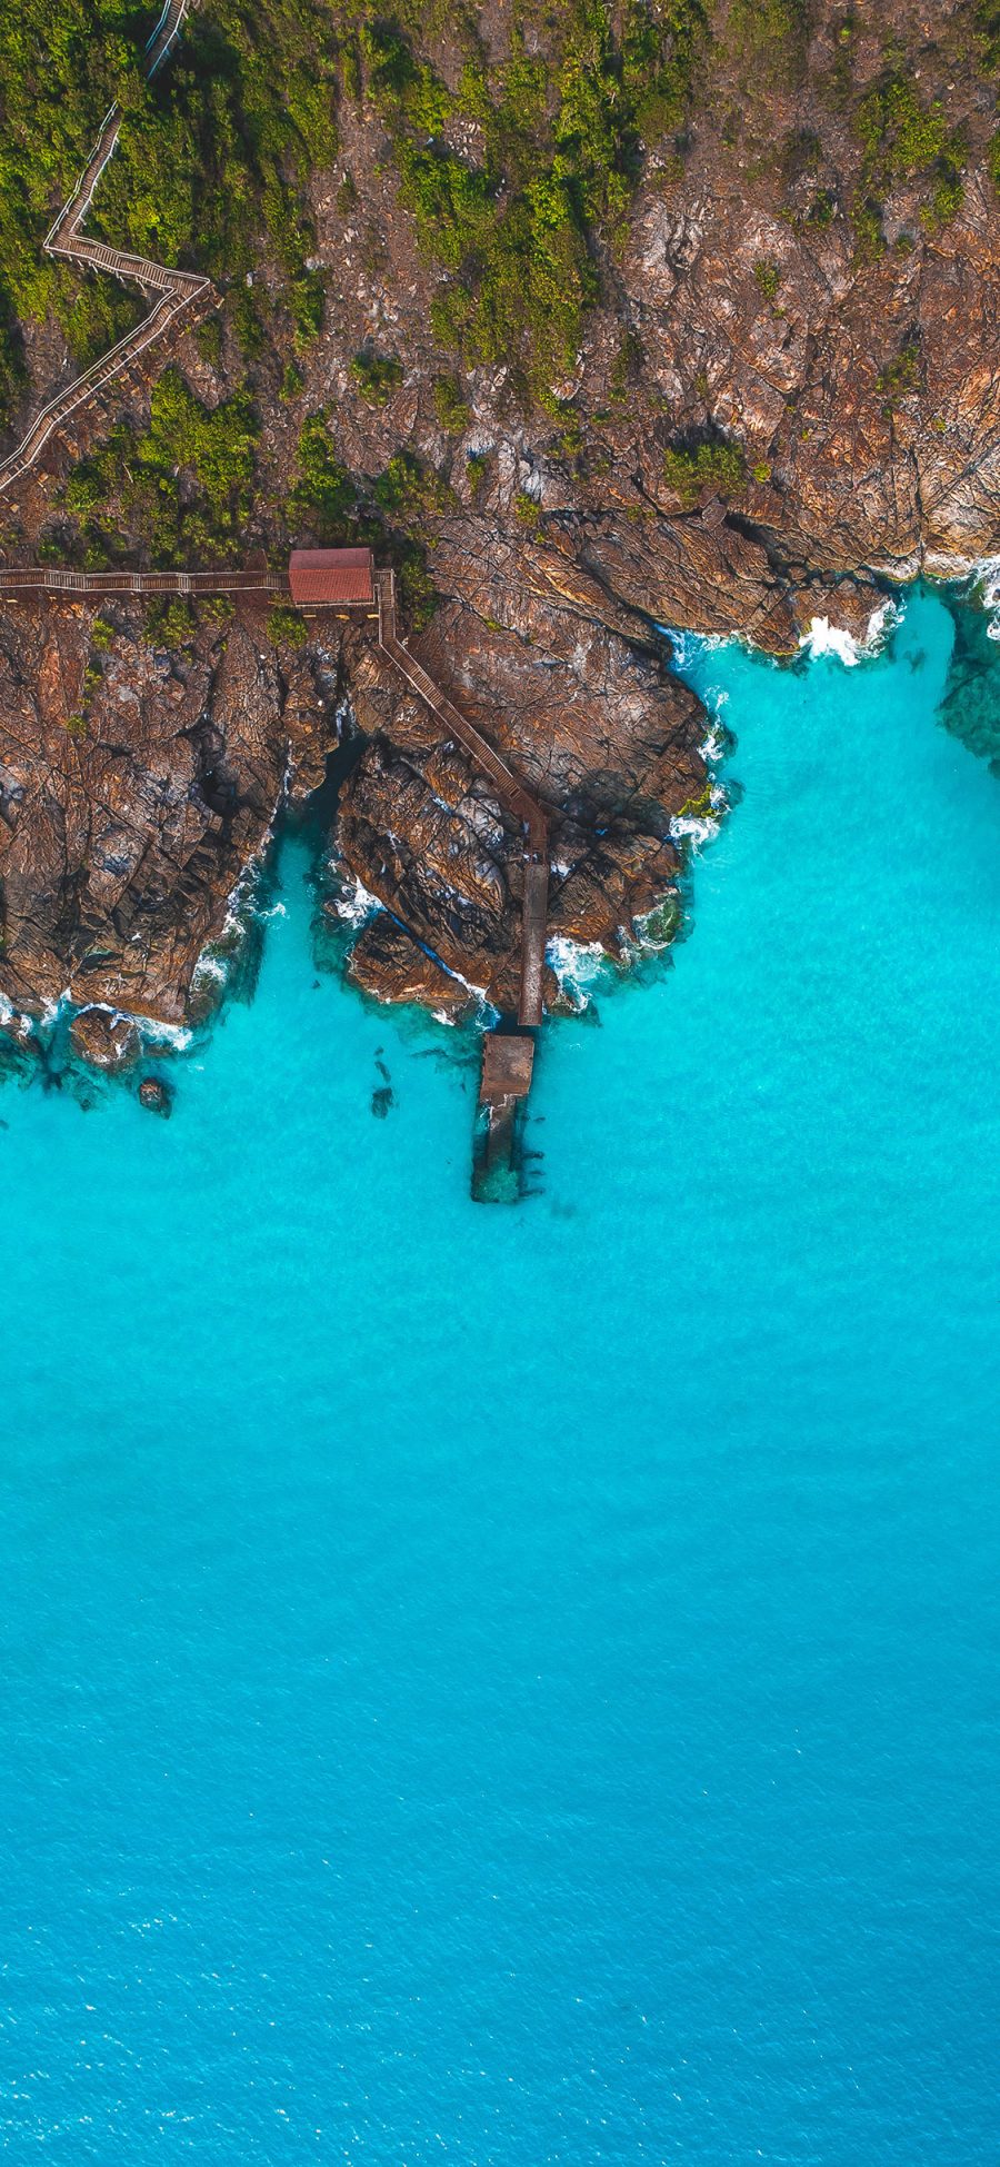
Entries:
<svg viewBox="0 0 1000 2167">
<path fill-rule="evenodd" d="M 335 160 L 310 182 L 318 336 L 294 345 L 264 249 L 258 351 L 229 297 L 210 336 L 169 355 L 195 436 L 240 401 L 255 416 L 229 559 L 279 563 L 290 542 L 361 531 L 400 563 L 405 607 L 409 576 L 413 652 L 552 808 L 554 938 L 621 958 L 636 921 L 675 917 L 680 836 L 710 793 L 708 717 L 662 626 L 775 657 L 816 620 L 861 641 L 907 581 L 965 576 L 998 548 L 994 89 L 968 63 L 968 9 L 944 7 L 933 33 L 911 7 L 890 13 L 920 59 L 916 111 L 946 113 L 948 137 L 929 124 L 903 154 L 896 128 L 874 180 L 857 115 L 885 82 L 885 22 L 844 33 L 816 7 L 794 65 L 751 93 L 719 11 L 725 95 L 645 156 L 574 364 L 543 399 L 504 364 L 442 358 L 439 269 L 364 95 L 340 100 Z M 500 37 L 489 11 L 481 24 Z M 833 93 L 844 39 L 851 98 Z M 437 78 L 455 85 L 459 65 L 439 35 Z M 961 141 L 961 189 L 944 206 L 946 141 L 955 158 Z M 28 327 L 26 351 L 11 438 L 67 368 L 52 325 Z M 143 494 L 158 381 L 108 388 L 48 446 L 4 505 L 9 563 L 165 561 Z M 167 449 L 162 475 L 173 550 L 208 561 L 199 442 L 173 468 Z M 24 1040 L 19 1018 L 65 1003 L 78 1055 L 119 1068 L 134 1038 L 119 1018 L 199 1021 L 240 878 L 275 826 L 323 806 L 323 847 L 383 906 L 351 979 L 446 1016 L 506 1008 L 517 836 L 364 631 L 251 602 L 180 622 L 128 600 L 2 607 L 0 1029 Z"/>
</svg>

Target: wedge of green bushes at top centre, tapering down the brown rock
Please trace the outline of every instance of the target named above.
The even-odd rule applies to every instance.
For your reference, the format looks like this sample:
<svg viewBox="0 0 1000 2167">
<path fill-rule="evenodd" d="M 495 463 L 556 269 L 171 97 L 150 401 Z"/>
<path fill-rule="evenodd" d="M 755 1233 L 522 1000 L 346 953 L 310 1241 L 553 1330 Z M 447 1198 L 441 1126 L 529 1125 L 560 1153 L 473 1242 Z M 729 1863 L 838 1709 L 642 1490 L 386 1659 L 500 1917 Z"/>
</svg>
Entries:
<svg viewBox="0 0 1000 2167">
<path fill-rule="evenodd" d="M 420 17 L 420 4 L 407 20 Z M 554 52 L 519 26 L 489 72 L 470 35 L 455 95 L 396 26 L 361 33 L 368 93 L 390 130 L 420 245 L 452 280 L 433 306 L 439 342 L 506 362 L 524 388 L 563 373 L 597 297 L 595 243 L 615 243 L 643 143 L 680 128 L 708 41 L 701 0 L 567 0 L 545 17 Z M 478 121 L 472 165 L 442 143 L 452 115 Z"/>
</svg>

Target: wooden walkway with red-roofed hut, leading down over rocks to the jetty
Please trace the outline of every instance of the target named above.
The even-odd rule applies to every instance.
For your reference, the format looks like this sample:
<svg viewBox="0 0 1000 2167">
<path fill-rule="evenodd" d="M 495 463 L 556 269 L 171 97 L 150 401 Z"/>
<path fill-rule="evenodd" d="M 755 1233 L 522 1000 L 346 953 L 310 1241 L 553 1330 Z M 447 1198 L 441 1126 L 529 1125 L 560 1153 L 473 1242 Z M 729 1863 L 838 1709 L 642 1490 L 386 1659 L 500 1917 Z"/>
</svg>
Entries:
<svg viewBox="0 0 1000 2167">
<path fill-rule="evenodd" d="M 69 602 L 100 602 L 143 594 L 247 594 L 277 596 L 307 611 L 333 609 L 377 622 L 377 648 L 398 676 L 424 700 L 444 737 L 463 745 L 489 778 L 504 810 L 524 834 L 522 973 L 517 1023 L 541 1023 L 545 995 L 548 921 L 548 817 L 519 776 L 496 752 L 476 724 L 455 706 L 442 685 L 409 650 L 396 624 L 396 576 L 374 570 L 372 553 L 294 550 L 288 572 L 71 572 L 65 566 L 0 566 L 0 600 L 54 596 Z"/>
</svg>

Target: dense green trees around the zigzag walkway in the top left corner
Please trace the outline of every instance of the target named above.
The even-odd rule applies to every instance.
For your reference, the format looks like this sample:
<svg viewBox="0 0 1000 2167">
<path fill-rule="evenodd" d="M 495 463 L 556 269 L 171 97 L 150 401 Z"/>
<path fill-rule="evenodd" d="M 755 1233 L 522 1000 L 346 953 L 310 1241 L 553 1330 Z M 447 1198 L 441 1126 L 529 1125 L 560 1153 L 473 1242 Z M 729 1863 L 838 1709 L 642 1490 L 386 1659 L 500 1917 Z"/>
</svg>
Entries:
<svg viewBox="0 0 1000 2167">
<path fill-rule="evenodd" d="M 154 13 L 134 0 L 22 0 L 0 11 L 0 425 L 24 373 L 17 319 L 52 310 L 84 364 L 143 312 L 117 282 L 41 254 L 115 98 L 126 119 L 95 204 L 108 236 L 223 280 L 253 267 L 264 232 L 299 338 L 318 327 L 303 182 L 335 154 L 323 0 L 214 0 L 210 17 L 188 15 L 147 85 Z M 212 360 L 212 332 L 203 336 Z"/>
</svg>

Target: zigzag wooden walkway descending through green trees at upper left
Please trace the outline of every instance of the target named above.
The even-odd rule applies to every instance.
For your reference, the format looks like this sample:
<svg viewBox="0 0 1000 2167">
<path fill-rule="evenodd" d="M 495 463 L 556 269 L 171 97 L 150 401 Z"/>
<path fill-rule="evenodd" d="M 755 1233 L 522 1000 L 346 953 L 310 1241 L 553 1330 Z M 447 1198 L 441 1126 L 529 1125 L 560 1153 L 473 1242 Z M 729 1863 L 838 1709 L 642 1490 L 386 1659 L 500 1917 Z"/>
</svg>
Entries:
<svg viewBox="0 0 1000 2167">
<path fill-rule="evenodd" d="M 156 69 L 167 59 L 188 7 L 190 0 L 167 0 L 160 22 L 156 24 L 156 30 L 145 48 L 147 78 L 156 76 Z M 106 384 L 113 384 L 115 377 L 123 377 L 126 371 L 143 358 L 147 347 L 156 345 L 156 340 L 160 340 L 171 327 L 180 323 L 195 323 L 206 308 L 214 308 L 219 301 L 219 295 L 208 277 L 199 277 L 193 271 L 169 271 L 165 264 L 156 264 L 147 256 L 130 256 L 126 249 L 113 249 L 104 241 L 87 241 L 87 236 L 80 234 L 97 180 L 115 152 L 119 130 L 121 113 L 115 104 L 104 115 L 97 143 L 93 145 L 74 193 L 67 197 L 54 225 L 45 234 L 43 249 L 45 256 L 80 264 L 82 271 L 110 271 L 115 277 L 130 280 L 152 297 L 154 306 L 134 332 L 128 332 L 128 336 L 119 338 L 115 347 L 108 347 L 108 353 L 102 353 L 97 362 L 91 362 L 91 368 L 84 368 L 63 392 L 56 392 L 56 397 L 41 407 L 17 449 L 11 451 L 6 459 L 0 459 L 0 490 L 11 490 L 15 481 L 22 481 L 22 477 L 28 475 L 41 457 L 56 429 L 63 429 L 65 423 L 95 397 L 95 392 L 104 390 Z"/>
</svg>

